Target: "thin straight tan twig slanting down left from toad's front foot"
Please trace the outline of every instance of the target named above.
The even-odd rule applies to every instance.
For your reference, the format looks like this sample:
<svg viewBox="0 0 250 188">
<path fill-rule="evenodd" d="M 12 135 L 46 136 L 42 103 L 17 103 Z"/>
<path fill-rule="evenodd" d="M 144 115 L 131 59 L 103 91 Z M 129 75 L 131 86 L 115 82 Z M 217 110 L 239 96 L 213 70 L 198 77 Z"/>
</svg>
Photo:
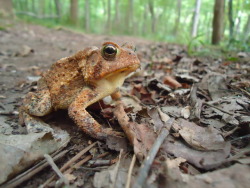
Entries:
<svg viewBox="0 0 250 188">
<path fill-rule="evenodd" d="M 88 147 L 84 148 L 82 151 L 80 151 L 77 155 L 75 155 L 72 159 L 70 159 L 67 163 L 65 163 L 61 168 L 60 171 L 65 171 L 71 164 L 73 164 L 75 161 L 77 161 L 83 154 L 85 154 L 88 150 L 90 150 L 92 147 L 94 147 L 97 144 L 97 142 L 94 142 L 93 144 L 89 145 Z M 43 186 L 48 185 L 56 176 L 53 175 L 50 179 L 48 179 L 46 182 L 44 182 Z"/>
</svg>

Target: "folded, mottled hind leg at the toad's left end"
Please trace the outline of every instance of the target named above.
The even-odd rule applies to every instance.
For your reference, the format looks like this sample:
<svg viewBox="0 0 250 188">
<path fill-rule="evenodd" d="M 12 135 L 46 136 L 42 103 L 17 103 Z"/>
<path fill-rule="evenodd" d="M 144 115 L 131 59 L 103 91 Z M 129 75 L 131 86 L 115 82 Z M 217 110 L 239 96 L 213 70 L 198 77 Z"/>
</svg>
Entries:
<svg viewBox="0 0 250 188">
<path fill-rule="evenodd" d="M 19 123 L 25 124 L 27 129 L 46 126 L 47 124 L 38 117 L 45 116 L 51 111 L 52 104 L 49 89 L 43 80 L 39 80 L 38 90 L 28 93 L 19 108 Z"/>
</svg>

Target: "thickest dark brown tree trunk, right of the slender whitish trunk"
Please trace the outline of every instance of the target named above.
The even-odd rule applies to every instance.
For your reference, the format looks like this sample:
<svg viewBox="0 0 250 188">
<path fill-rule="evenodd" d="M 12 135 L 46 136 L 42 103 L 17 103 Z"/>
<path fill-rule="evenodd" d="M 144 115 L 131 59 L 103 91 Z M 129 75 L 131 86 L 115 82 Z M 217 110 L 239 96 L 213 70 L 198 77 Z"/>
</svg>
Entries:
<svg viewBox="0 0 250 188">
<path fill-rule="evenodd" d="M 219 44 L 223 36 L 224 7 L 224 0 L 215 0 L 212 34 L 212 44 L 214 45 Z"/>
</svg>

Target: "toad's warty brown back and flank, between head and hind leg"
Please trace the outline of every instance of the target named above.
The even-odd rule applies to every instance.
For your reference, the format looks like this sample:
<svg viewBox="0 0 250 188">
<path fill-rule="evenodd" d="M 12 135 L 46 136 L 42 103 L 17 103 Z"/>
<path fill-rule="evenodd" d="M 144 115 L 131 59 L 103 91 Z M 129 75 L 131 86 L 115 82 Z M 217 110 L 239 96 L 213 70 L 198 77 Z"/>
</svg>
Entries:
<svg viewBox="0 0 250 188">
<path fill-rule="evenodd" d="M 55 109 L 67 109 L 76 94 L 85 85 L 78 66 L 79 58 L 82 57 L 74 56 L 60 59 L 43 75 Z"/>
</svg>

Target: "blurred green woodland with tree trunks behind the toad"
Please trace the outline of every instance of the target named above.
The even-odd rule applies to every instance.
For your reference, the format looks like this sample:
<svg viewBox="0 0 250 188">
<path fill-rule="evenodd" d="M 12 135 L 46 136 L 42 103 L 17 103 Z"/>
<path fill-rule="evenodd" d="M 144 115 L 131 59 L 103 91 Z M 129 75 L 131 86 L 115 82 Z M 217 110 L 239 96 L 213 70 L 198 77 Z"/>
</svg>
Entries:
<svg viewBox="0 0 250 188">
<path fill-rule="evenodd" d="M 225 50 L 250 51 L 250 0 L 12 0 L 11 3 L 17 18 L 48 27 L 185 44 L 190 52 L 210 44 L 220 44 Z"/>
</svg>

